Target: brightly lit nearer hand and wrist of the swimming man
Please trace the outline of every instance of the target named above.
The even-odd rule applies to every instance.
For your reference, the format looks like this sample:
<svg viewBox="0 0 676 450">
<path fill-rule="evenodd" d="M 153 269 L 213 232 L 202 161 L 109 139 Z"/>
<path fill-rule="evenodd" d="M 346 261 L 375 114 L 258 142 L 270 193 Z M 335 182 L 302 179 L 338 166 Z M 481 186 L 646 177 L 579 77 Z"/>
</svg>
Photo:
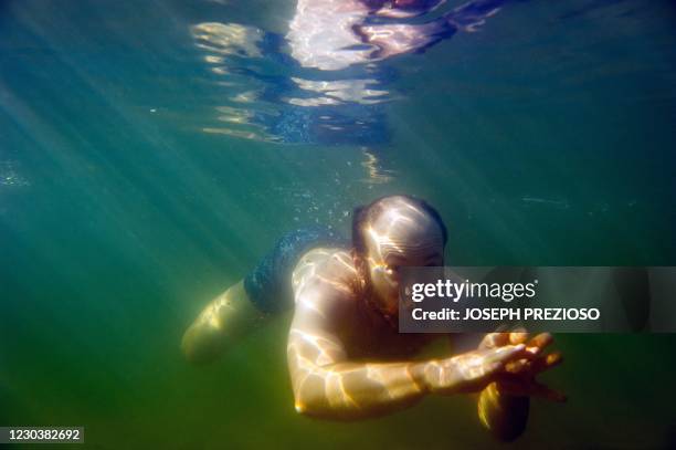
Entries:
<svg viewBox="0 0 676 450">
<path fill-rule="evenodd" d="M 424 385 L 433 394 L 475 393 L 506 374 L 507 366 L 532 359 L 524 343 L 479 348 L 451 358 L 425 363 Z"/>
</svg>

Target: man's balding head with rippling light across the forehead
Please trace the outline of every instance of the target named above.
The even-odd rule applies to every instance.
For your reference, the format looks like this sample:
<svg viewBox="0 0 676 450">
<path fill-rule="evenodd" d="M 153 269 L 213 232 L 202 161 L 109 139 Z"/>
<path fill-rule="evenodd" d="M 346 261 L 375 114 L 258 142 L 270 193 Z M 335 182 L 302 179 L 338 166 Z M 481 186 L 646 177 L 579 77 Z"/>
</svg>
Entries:
<svg viewBox="0 0 676 450">
<path fill-rule="evenodd" d="M 424 211 L 408 203 L 385 209 L 363 232 L 371 300 L 383 314 L 397 316 L 401 268 L 443 265 L 441 228 Z"/>
</svg>

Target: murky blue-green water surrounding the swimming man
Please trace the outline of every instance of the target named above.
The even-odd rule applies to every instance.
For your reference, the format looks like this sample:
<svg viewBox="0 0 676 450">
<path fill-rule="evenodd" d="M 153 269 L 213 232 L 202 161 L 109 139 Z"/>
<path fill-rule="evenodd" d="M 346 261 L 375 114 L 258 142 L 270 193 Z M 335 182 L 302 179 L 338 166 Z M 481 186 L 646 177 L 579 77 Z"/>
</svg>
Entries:
<svg viewBox="0 0 676 450">
<path fill-rule="evenodd" d="M 284 232 L 348 233 L 408 192 L 455 265 L 675 263 L 676 10 L 516 2 L 397 72 L 389 142 L 204 133 L 224 91 L 190 27 L 283 33 L 293 1 L 0 3 L 0 426 L 84 426 L 87 447 L 484 448 L 468 397 L 356 423 L 296 415 L 289 316 L 194 368 L 180 337 Z M 674 444 L 676 338 L 559 335 L 514 447 Z"/>
</svg>

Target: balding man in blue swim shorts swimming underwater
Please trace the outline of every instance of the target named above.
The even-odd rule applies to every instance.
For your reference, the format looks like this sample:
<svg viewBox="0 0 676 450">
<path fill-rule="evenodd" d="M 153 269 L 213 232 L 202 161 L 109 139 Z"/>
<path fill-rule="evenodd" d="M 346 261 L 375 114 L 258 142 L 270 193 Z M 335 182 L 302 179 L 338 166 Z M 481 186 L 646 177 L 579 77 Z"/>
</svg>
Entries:
<svg viewBox="0 0 676 450">
<path fill-rule="evenodd" d="M 530 396 L 563 399 L 536 380 L 561 360 L 543 352 L 551 335 L 490 333 L 472 352 L 420 360 L 415 354 L 439 335 L 398 332 L 400 268 L 443 265 L 446 233 L 436 210 L 409 196 L 358 208 L 349 249 L 320 230 L 291 233 L 207 306 L 182 349 L 191 362 L 211 360 L 262 316 L 293 307 L 287 356 L 298 412 L 353 420 L 426 395 L 480 393 L 482 423 L 499 439 L 515 439 Z"/>
</svg>

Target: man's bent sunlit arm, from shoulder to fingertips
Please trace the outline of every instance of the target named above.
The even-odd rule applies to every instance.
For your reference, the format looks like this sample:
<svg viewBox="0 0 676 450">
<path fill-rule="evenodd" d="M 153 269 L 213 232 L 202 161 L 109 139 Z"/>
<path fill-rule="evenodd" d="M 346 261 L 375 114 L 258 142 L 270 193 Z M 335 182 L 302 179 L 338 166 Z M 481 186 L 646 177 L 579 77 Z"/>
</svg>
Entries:
<svg viewBox="0 0 676 450">
<path fill-rule="evenodd" d="M 525 345 L 505 345 L 445 359 L 400 363 L 350 362 L 332 332 L 347 290 L 315 281 L 296 294 L 288 364 L 296 410 L 352 420 L 406 408 L 426 394 L 478 391 L 511 362 L 528 357 Z"/>
</svg>

